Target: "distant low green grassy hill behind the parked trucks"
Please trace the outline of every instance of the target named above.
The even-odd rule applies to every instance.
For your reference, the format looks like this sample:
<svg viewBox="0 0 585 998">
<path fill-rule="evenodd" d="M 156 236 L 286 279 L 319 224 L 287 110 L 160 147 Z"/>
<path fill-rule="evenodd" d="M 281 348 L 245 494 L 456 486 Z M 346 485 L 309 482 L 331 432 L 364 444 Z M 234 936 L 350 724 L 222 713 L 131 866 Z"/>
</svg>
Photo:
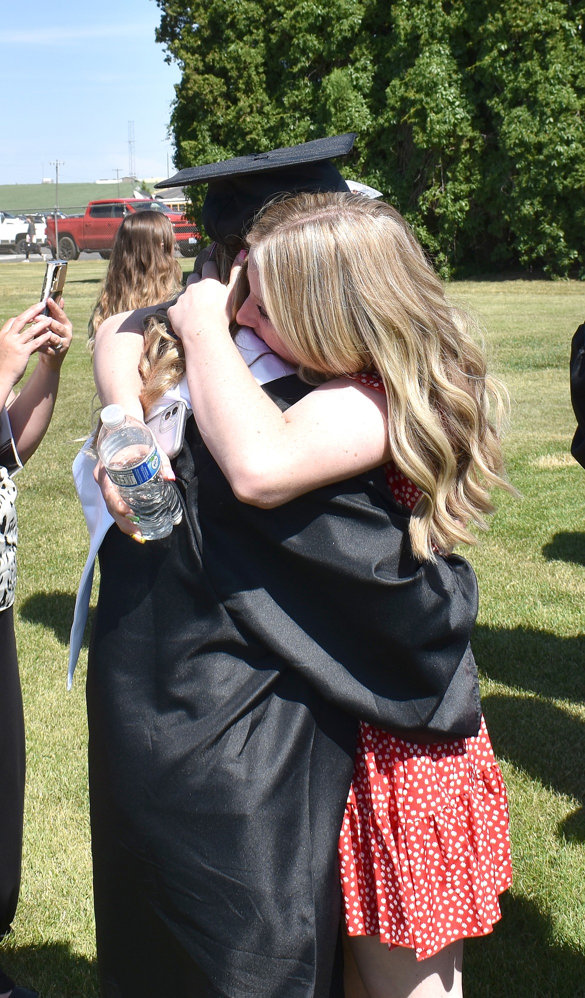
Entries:
<svg viewBox="0 0 585 998">
<path fill-rule="evenodd" d="M 66 215 L 85 212 L 90 201 L 104 198 L 132 198 L 139 182 L 120 181 L 113 184 L 60 184 L 59 208 Z M 118 193 L 120 190 L 120 193 Z M 23 215 L 28 212 L 49 212 L 55 208 L 54 184 L 0 185 L 0 211 Z"/>
</svg>

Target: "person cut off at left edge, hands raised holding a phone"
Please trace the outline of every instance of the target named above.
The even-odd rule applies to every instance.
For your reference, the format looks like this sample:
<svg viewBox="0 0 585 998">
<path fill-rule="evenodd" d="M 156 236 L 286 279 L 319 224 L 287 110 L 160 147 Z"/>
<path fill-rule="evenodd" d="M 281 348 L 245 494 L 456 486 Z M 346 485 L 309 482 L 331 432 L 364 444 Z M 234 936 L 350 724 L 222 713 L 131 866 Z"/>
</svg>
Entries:
<svg viewBox="0 0 585 998">
<path fill-rule="evenodd" d="M 20 889 L 25 742 L 14 637 L 16 486 L 12 475 L 28 461 L 53 415 L 71 322 L 49 298 L 10 318 L 0 329 L 0 938 L 10 928 Z M 28 362 L 38 362 L 22 390 L 14 386 Z M 0 998 L 34 998 L 0 969 Z"/>
</svg>

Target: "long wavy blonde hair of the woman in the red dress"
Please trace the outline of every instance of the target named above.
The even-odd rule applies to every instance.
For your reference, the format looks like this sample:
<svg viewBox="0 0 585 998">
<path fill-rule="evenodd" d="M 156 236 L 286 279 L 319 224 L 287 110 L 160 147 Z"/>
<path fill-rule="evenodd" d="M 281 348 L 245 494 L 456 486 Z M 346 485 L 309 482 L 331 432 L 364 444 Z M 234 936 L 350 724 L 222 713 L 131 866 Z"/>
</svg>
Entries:
<svg viewBox="0 0 585 998">
<path fill-rule="evenodd" d="M 415 556 L 475 543 L 469 525 L 485 527 L 490 488 L 511 490 L 507 394 L 401 216 L 360 195 L 298 195 L 264 211 L 248 241 L 300 376 L 380 375 L 392 459 L 422 492 L 409 522 Z"/>
</svg>

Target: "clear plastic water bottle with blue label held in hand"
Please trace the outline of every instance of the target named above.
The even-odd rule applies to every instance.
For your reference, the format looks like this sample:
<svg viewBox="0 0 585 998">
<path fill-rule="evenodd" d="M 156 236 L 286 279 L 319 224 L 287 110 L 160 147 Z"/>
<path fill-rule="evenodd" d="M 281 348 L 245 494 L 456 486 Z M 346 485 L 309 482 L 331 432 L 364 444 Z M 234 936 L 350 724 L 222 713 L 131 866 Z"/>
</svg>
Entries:
<svg viewBox="0 0 585 998">
<path fill-rule="evenodd" d="M 181 523 L 176 488 L 161 477 L 161 455 L 154 434 L 121 405 L 102 409 L 98 454 L 120 495 L 138 517 L 147 541 L 168 537 Z"/>
</svg>

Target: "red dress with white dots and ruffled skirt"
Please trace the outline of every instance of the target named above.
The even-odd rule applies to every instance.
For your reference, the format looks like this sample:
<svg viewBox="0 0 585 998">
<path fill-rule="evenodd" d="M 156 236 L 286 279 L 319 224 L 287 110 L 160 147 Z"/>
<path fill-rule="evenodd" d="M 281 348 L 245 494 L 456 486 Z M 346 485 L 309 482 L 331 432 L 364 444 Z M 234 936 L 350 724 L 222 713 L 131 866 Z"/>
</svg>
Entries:
<svg viewBox="0 0 585 998">
<path fill-rule="evenodd" d="M 355 380 L 384 390 L 375 375 Z M 412 509 L 420 492 L 391 462 L 386 481 Z M 506 790 L 483 719 L 477 738 L 440 745 L 360 724 L 339 873 L 349 936 L 379 935 L 421 960 L 491 932 L 512 867 Z"/>
</svg>

